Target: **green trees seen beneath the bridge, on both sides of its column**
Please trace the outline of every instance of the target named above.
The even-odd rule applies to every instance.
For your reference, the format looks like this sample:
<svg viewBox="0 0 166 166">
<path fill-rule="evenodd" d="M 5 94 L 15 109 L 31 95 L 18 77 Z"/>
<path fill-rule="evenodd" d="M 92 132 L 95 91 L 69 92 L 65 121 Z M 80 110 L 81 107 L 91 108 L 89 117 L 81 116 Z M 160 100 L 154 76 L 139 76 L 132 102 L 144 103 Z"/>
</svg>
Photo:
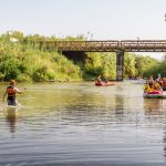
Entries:
<svg viewBox="0 0 166 166">
<path fill-rule="evenodd" d="M 135 55 L 134 53 L 124 54 L 124 77 L 128 76 L 149 76 L 158 61 L 149 58 Z M 156 70 L 156 69 L 155 69 Z M 84 77 L 96 77 L 98 74 L 103 77 L 116 79 L 116 54 L 115 53 L 89 53 Z"/>
</svg>

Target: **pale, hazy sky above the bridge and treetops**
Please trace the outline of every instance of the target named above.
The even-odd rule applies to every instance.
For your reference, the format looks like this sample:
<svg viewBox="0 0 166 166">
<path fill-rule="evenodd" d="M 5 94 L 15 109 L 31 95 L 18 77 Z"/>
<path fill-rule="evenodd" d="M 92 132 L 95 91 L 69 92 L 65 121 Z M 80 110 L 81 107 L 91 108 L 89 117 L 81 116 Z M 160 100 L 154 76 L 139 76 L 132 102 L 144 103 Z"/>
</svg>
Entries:
<svg viewBox="0 0 166 166">
<path fill-rule="evenodd" d="M 0 33 L 166 39 L 166 0 L 0 0 Z"/>
</svg>

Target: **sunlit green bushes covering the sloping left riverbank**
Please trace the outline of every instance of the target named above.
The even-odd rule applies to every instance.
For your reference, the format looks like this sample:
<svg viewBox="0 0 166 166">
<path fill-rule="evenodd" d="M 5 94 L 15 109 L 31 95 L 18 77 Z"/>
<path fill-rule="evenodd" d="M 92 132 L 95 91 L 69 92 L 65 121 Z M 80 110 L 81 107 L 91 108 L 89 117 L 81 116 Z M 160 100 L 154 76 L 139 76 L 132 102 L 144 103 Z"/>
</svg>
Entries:
<svg viewBox="0 0 166 166">
<path fill-rule="evenodd" d="M 15 31 L 0 37 L 1 79 L 4 81 L 11 79 L 18 81 L 70 81 L 82 79 L 80 68 L 65 56 L 58 52 L 42 51 L 41 48 L 32 44 L 32 41 L 39 40 L 46 40 L 46 38 L 38 34 L 23 37 L 21 32 Z"/>
</svg>

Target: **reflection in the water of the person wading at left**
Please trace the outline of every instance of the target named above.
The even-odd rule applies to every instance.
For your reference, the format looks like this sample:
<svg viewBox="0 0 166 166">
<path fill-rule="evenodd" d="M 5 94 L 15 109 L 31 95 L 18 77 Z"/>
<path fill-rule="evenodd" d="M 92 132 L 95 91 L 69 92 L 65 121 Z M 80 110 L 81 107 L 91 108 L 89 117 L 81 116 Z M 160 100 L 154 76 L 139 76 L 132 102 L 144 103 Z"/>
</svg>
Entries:
<svg viewBox="0 0 166 166">
<path fill-rule="evenodd" d="M 18 108 L 17 107 L 6 107 L 3 110 L 6 121 L 9 125 L 10 132 L 14 133 L 17 129 L 17 121 L 18 121 Z"/>
</svg>

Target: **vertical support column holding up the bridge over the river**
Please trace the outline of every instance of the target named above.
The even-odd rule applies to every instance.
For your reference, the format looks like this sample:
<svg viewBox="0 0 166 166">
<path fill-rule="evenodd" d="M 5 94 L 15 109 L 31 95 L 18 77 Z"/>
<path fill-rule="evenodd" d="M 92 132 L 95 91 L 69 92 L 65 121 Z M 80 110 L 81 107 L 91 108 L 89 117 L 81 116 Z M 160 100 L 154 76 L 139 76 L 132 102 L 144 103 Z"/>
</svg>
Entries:
<svg viewBox="0 0 166 166">
<path fill-rule="evenodd" d="M 124 52 L 116 52 L 116 80 L 123 81 Z"/>
</svg>

